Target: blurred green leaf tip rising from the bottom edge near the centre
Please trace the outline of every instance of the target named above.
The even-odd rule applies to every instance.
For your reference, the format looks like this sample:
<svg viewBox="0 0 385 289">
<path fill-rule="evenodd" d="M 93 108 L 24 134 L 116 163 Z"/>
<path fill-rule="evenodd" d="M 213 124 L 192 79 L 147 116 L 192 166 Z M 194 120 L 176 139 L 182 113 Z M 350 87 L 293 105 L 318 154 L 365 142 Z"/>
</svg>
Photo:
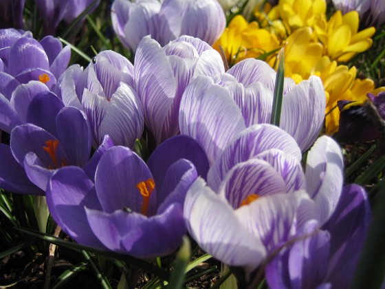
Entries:
<svg viewBox="0 0 385 289">
<path fill-rule="evenodd" d="M 183 237 L 183 244 L 179 249 L 177 254 L 177 261 L 174 266 L 173 273 L 170 277 L 170 283 L 168 283 L 168 288 L 179 289 L 183 288 L 184 276 L 186 272 L 187 262 L 190 259 L 190 240 L 188 237 Z"/>
</svg>

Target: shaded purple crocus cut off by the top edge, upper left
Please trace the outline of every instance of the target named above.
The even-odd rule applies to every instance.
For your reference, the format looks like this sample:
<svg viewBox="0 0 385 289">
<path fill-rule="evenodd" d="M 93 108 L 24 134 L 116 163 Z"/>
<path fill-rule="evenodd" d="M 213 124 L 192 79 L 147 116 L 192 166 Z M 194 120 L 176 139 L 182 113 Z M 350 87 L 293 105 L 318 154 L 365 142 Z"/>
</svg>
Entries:
<svg viewBox="0 0 385 289">
<path fill-rule="evenodd" d="M 78 17 L 94 0 L 35 0 L 43 21 L 45 34 L 54 34 L 58 24 L 65 19 L 70 23 Z M 98 7 L 99 1 L 93 6 Z M 92 10 L 91 10 L 92 11 Z"/>
</svg>

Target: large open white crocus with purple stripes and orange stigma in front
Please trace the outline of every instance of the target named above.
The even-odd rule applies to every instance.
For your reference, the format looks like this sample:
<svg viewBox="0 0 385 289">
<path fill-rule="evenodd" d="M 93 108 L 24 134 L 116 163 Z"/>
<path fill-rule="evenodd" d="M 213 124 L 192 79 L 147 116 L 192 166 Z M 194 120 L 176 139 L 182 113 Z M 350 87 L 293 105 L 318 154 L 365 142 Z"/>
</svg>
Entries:
<svg viewBox="0 0 385 289">
<path fill-rule="evenodd" d="M 186 195 L 184 217 L 199 246 L 250 274 L 308 220 L 325 224 L 342 191 L 342 154 L 323 136 L 307 169 L 296 141 L 272 125 L 242 131 Z"/>
</svg>

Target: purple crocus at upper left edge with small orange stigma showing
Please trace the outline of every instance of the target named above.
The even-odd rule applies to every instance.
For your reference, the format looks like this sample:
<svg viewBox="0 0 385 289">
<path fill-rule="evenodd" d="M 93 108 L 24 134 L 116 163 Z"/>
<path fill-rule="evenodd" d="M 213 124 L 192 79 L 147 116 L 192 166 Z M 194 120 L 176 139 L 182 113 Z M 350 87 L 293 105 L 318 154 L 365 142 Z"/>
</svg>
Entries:
<svg viewBox="0 0 385 289">
<path fill-rule="evenodd" d="M 63 48 L 52 36 L 37 41 L 30 32 L 14 29 L 0 30 L 0 39 L 0 94 L 9 100 L 19 84 L 29 81 L 54 89 L 69 63 L 69 46 Z"/>
</svg>

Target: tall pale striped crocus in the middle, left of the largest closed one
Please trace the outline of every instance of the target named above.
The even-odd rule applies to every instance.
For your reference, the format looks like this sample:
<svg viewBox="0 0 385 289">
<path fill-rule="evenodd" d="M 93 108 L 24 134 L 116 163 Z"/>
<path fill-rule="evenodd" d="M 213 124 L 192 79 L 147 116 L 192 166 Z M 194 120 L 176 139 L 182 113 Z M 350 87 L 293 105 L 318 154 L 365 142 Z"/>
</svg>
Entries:
<svg viewBox="0 0 385 289">
<path fill-rule="evenodd" d="M 135 54 L 135 90 L 157 144 L 179 133 L 179 103 L 192 78 L 223 72 L 221 56 L 200 39 L 181 36 L 163 48 L 142 39 Z"/>
</svg>

